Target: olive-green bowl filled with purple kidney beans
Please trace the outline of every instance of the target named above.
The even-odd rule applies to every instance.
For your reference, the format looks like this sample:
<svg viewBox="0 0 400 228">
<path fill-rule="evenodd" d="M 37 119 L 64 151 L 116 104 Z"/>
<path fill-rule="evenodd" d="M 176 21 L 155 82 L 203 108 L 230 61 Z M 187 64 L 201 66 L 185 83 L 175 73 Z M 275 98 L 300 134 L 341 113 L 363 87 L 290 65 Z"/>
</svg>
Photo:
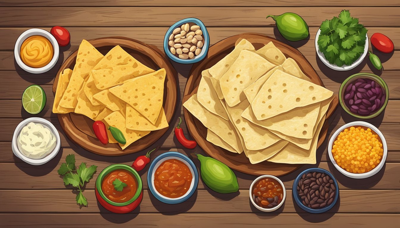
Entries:
<svg viewBox="0 0 400 228">
<path fill-rule="evenodd" d="M 372 73 L 356 73 L 343 81 L 339 101 L 344 111 L 360 119 L 371 119 L 385 109 L 389 100 L 386 82 Z"/>
</svg>

